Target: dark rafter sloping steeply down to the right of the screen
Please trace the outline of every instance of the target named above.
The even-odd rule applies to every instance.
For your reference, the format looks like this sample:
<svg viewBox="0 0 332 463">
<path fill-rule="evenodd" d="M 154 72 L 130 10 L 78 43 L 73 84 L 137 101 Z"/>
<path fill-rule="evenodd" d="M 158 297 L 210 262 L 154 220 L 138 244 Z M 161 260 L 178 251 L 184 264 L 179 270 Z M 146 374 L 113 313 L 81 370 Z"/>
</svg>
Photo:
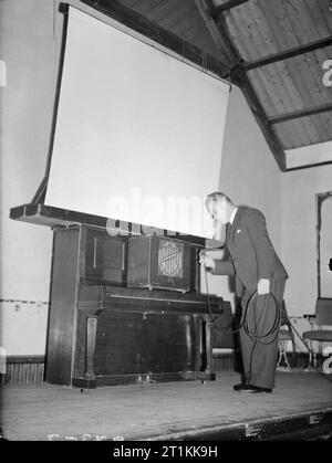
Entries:
<svg viewBox="0 0 332 463">
<path fill-rule="evenodd" d="M 199 0 L 204 8 L 199 9 L 201 14 L 208 14 L 208 11 L 211 11 L 212 2 L 211 0 Z M 220 40 L 222 40 L 222 43 L 226 44 L 228 48 L 228 52 L 231 56 L 232 66 L 229 70 L 228 74 L 225 75 L 225 77 L 229 78 L 230 82 L 234 82 L 236 85 L 238 85 L 247 102 L 248 105 L 256 117 L 256 120 L 267 140 L 267 144 L 269 145 L 272 155 L 280 168 L 281 171 L 284 171 L 286 169 L 286 154 L 284 149 L 279 141 L 272 126 L 269 124 L 267 114 L 251 85 L 251 82 L 249 81 L 249 77 L 247 76 L 246 71 L 242 69 L 241 65 L 241 56 L 236 49 L 231 38 L 230 33 L 228 31 L 228 27 L 226 24 L 225 18 L 222 14 L 218 18 L 218 20 L 215 20 L 218 34 L 220 35 Z M 215 35 L 212 35 L 212 39 L 215 39 Z"/>
</svg>

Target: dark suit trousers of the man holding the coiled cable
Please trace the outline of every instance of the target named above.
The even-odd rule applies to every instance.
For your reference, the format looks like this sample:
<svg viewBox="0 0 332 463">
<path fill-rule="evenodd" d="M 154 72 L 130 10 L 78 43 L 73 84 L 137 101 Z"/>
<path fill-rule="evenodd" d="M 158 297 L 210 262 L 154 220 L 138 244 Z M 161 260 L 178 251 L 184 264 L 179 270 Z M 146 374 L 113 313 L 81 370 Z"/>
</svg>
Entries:
<svg viewBox="0 0 332 463">
<path fill-rule="evenodd" d="M 277 311 L 280 311 L 279 314 L 281 315 L 284 285 L 286 278 L 270 281 L 270 292 L 274 298 L 269 294 L 250 298 L 253 292 L 249 290 L 246 290 L 241 298 L 241 325 L 243 317 L 247 317 L 245 322 L 250 327 L 251 335 L 253 335 L 251 337 L 245 327 L 241 327 L 241 354 L 246 381 L 253 386 L 274 388 L 280 326 L 278 325 L 273 333 L 269 333 L 276 327 Z"/>
</svg>

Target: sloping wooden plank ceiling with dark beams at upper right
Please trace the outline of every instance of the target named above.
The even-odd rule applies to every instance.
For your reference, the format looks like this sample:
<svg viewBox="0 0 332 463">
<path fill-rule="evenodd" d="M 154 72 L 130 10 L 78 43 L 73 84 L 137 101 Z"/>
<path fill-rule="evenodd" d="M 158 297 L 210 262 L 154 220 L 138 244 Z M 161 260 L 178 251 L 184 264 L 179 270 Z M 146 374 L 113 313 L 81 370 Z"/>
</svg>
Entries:
<svg viewBox="0 0 332 463">
<path fill-rule="evenodd" d="M 332 140 L 331 0 L 83 1 L 239 85 L 282 171 Z"/>
</svg>

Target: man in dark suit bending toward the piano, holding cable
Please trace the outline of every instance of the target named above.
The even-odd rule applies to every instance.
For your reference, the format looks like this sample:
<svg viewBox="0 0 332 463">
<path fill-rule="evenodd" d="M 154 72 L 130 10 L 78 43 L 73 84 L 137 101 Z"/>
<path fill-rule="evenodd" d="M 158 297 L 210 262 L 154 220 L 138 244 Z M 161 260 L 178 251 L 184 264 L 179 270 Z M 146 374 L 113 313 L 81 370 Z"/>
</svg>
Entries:
<svg viewBox="0 0 332 463">
<path fill-rule="evenodd" d="M 214 260 L 204 252 L 200 263 L 214 274 L 236 275 L 236 293 L 241 298 L 240 341 L 245 381 L 234 389 L 271 392 L 278 361 L 279 324 L 276 326 L 276 320 L 281 311 L 287 272 L 269 238 L 264 215 L 259 210 L 237 207 L 221 192 L 209 194 L 206 208 L 215 230 L 228 225 L 226 245 L 230 259 Z"/>
</svg>

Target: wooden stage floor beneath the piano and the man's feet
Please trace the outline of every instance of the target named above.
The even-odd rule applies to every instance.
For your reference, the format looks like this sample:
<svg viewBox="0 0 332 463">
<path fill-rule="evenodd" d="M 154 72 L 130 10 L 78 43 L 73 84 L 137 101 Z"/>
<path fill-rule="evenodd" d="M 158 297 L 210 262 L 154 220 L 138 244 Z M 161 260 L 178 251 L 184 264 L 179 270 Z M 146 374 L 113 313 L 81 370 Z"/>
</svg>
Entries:
<svg viewBox="0 0 332 463">
<path fill-rule="evenodd" d="M 277 372 L 268 394 L 235 392 L 239 376 L 216 381 L 100 387 L 4 386 L 3 436 L 48 440 L 273 440 L 293 428 L 332 430 L 332 383 L 318 372 Z M 332 433 L 331 433 L 332 435 Z"/>
</svg>

